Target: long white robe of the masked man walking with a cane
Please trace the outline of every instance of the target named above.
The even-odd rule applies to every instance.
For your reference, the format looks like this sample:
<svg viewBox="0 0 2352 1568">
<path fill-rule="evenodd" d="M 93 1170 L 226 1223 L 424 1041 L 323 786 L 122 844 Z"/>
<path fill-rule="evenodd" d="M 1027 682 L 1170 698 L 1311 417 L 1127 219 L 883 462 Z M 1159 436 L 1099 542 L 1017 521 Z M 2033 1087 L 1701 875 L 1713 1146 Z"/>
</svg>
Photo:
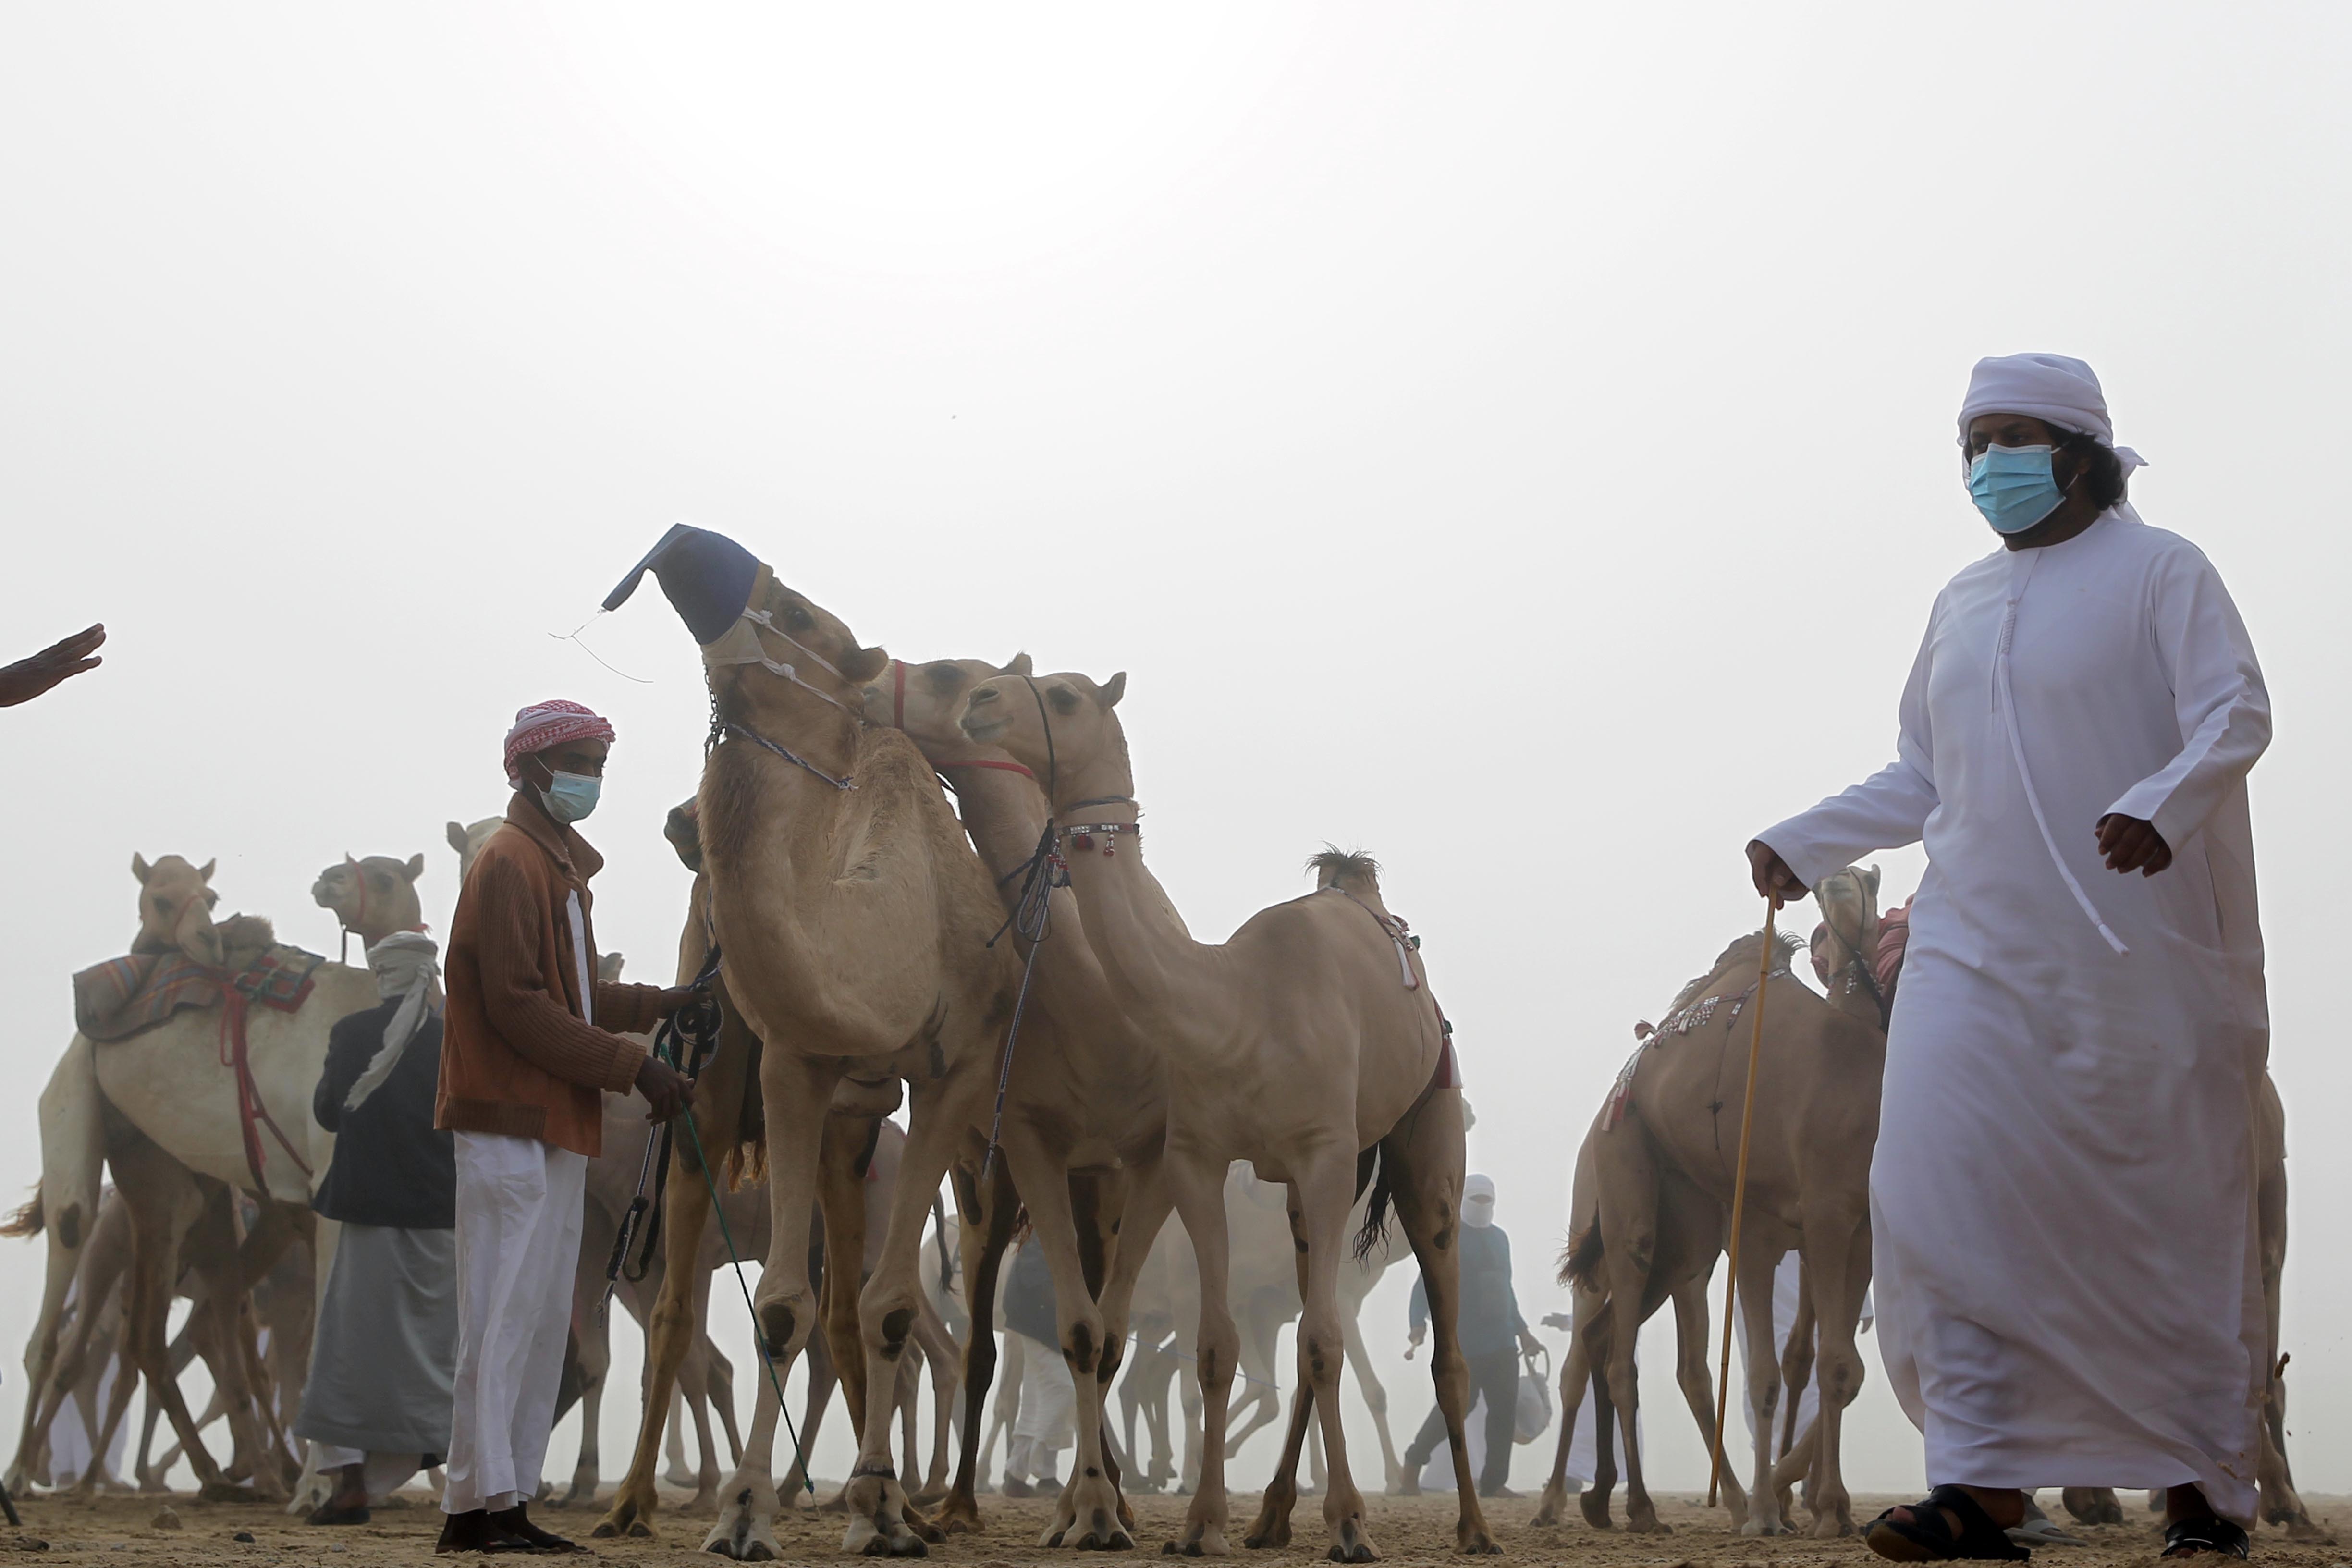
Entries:
<svg viewBox="0 0 2352 1568">
<path fill-rule="evenodd" d="M 1955 576 L 1896 762 L 1759 835 L 1806 884 L 1926 842 L 1870 1229 L 1933 1483 L 2194 1481 L 2253 1519 L 2267 741 L 2220 576 L 2124 505 Z M 2171 867 L 2107 872 L 2110 811 L 2154 823 Z"/>
</svg>

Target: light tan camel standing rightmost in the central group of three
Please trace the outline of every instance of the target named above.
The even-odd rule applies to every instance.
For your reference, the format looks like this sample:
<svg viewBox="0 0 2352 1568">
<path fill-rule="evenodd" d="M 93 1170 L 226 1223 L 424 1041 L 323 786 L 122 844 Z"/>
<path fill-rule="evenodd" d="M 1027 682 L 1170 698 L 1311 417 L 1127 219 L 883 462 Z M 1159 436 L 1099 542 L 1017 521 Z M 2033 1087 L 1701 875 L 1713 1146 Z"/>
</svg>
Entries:
<svg viewBox="0 0 2352 1568">
<path fill-rule="evenodd" d="M 1456 1547 L 1496 1552 L 1461 1439 L 1468 1373 L 1454 1338 L 1461 1272 L 1451 1248 L 1463 1185 L 1461 1086 L 1416 945 L 1381 905 L 1374 860 L 1338 851 L 1312 860 L 1312 893 L 1261 910 L 1223 945 L 1192 940 L 1145 867 L 1115 712 L 1124 691 L 1124 672 L 1103 684 L 997 675 L 971 691 L 960 722 L 971 741 L 1002 745 L 1047 776 L 1087 945 L 1120 1009 L 1162 1039 L 1167 1197 L 1148 1201 L 1174 1199 L 1200 1258 L 1204 1396 L 1202 1486 L 1171 1547 L 1228 1552 L 1225 1408 L 1240 1333 L 1225 1300 L 1223 1190 L 1230 1161 L 1249 1159 L 1261 1180 L 1289 1187 L 1305 1312 L 1289 1434 L 1247 1544 L 1289 1542 L 1298 1450 L 1319 1415 L 1331 1467 L 1329 1552 L 1338 1561 L 1376 1556 L 1338 1408 L 1338 1272 L 1348 1215 L 1369 1180 L 1367 1229 L 1376 1232 L 1395 1204 L 1428 1281 L 1432 1373 L 1461 1493 Z M 1136 1218 L 1157 1222 L 1148 1211 Z"/>
</svg>

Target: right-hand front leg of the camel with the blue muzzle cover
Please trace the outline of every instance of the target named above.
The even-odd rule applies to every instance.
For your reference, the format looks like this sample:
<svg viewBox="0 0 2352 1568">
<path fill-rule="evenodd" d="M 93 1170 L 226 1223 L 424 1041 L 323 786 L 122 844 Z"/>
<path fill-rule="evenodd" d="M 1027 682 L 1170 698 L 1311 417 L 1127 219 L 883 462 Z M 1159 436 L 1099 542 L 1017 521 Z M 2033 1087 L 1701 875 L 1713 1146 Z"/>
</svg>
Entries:
<svg viewBox="0 0 2352 1568">
<path fill-rule="evenodd" d="M 924 1084 L 913 1088 L 906 1147 L 898 1154 L 898 1182 L 889 1194 L 889 1222 L 882 1229 L 882 1255 L 873 1279 L 858 1293 L 866 1389 L 873 1396 L 858 1413 L 858 1462 L 849 1472 L 849 1530 L 842 1535 L 842 1552 L 920 1556 L 922 1533 L 936 1533 L 927 1519 L 908 1507 L 906 1488 L 891 1467 L 891 1401 L 884 1394 L 896 1387 L 898 1361 L 913 1345 L 915 1312 L 922 1302 L 922 1227 L 931 1218 L 931 1197 L 948 1175 L 962 1128 L 971 1124 L 969 1110 L 948 1095 L 957 1091 L 969 1095 L 985 1086 L 985 1079 L 974 1077 L 971 1084 L 953 1084 L 950 1079 L 943 1091 L 931 1091 Z M 1080 1291 L 1080 1295 L 1084 1293 Z M 1091 1312 L 1091 1302 L 1087 1307 Z M 849 1368 L 844 1366 L 842 1373 L 842 1387 L 849 1389 Z"/>
</svg>

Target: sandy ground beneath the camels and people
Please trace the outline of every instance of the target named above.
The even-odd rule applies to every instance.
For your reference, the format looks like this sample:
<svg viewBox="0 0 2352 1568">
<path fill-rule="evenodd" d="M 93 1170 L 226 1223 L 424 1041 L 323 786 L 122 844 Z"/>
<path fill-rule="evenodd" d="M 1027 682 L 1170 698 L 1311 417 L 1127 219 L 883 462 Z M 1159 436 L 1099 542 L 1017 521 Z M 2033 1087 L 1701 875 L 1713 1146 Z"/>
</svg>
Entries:
<svg viewBox="0 0 2352 1568">
<path fill-rule="evenodd" d="M 2046 1495 L 2056 1502 L 2056 1495 Z M 179 1528 L 158 1528 L 158 1507 L 165 1500 L 108 1495 L 89 1502 L 66 1497 L 28 1497 L 19 1505 L 24 1530 L 0 1526 L 0 1554 L 12 1561 L 42 1563 L 245 1563 L 292 1568 L 310 1563 L 318 1568 L 358 1568 L 360 1563 L 419 1563 L 433 1556 L 433 1537 L 440 1530 L 440 1514 L 428 1497 L 416 1497 L 416 1507 L 379 1509 L 374 1523 L 358 1528 L 308 1528 L 280 1509 L 209 1505 L 193 1497 L 169 1497 Z M 1856 1516 L 1867 1519 L 1898 1497 L 1856 1497 Z M 2352 1497 L 2307 1497 L 2312 1516 L 2340 1540 L 2352 1540 Z M 1710 1514 L 1696 1500 L 1677 1495 L 1661 1497 L 1661 1514 L 1672 1526 L 1672 1535 L 1625 1535 L 1623 1530 L 1597 1533 L 1576 1521 L 1557 1530 L 1538 1530 L 1529 1523 L 1536 1512 L 1534 1497 L 1505 1497 L 1486 1505 L 1486 1519 L 1503 1542 L 1503 1552 L 1515 1561 L 1534 1563 L 1595 1563 L 1642 1566 L 1642 1568 L 1700 1568 L 1722 1563 L 1724 1568 L 1809 1568 L 1813 1563 L 1877 1563 L 1856 1540 L 1743 1540 L 1722 1526 L 1722 1514 Z M 1033 1542 L 1044 1526 L 1047 1502 L 1009 1502 L 1004 1497 L 981 1497 L 988 1516 L 985 1535 L 957 1535 L 946 1547 L 934 1547 L 931 1556 L 971 1568 L 1011 1568 L 1016 1563 L 1075 1563 L 1073 1554 L 1042 1552 Z M 1235 1559 L 1247 1563 L 1317 1563 L 1322 1561 L 1322 1505 L 1305 1497 L 1294 1516 L 1294 1544 L 1284 1552 L 1240 1549 L 1240 1533 L 1256 1512 L 1254 1495 L 1232 1500 Z M 1138 1497 L 1136 1514 L 1143 1526 L 1141 1547 L 1131 1556 L 1157 1556 L 1183 1516 L 1181 1497 Z M 555 1530 L 586 1537 L 595 1514 L 586 1509 L 534 1509 L 534 1516 Z M 1623 1519 L 1623 1514 L 1621 1514 Z M 593 1554 L 621 1563 L 670 1561 L 687 1563 L 713 1559 L 696 1556 L 703 1526 L 663 1512 L 659 1540 L 588 1542 Z M 252 1540 L 238 1540 L 238 1533 Z M 2157 1533 L 2138 1521 L 2126 1526 L 2082 1528 L 2091 1537 L 2086 1549 L 2046 1547 L 2037 1556 L 2060 1568 L 2133 1568 L 2157 1563 Z M 776 1537 L 783 1542 L 790 1563 L 837 1563 L 842 1521 L 835 1514 L 800 1512 L 779 1523 Z M 1371 1537 L 1390 1563 L 1444 1563 L 1454 1559 L 1454 1500 L 1451 1497 L 1374 1497 Z M 33 1542 L 47 1542 L 35 1547 Z M 2284 1533 L 2265 1528 L 2256 1537 L 2256 1561 L 2281 1568 L 2343 1568 L 2347 1552 L 2331 1544 L 2288 1542 Z"/>
</svg>

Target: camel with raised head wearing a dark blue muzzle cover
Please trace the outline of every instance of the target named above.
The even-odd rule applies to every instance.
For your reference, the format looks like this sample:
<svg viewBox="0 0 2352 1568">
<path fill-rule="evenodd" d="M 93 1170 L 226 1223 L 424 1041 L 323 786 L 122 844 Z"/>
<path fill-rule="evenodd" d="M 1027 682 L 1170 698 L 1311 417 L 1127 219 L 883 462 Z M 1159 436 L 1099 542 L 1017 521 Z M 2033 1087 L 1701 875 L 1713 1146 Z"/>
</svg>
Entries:
<svg viewBox="0 0 2352 1568">
<path fill-rule="evenodd" d="M 710 682 L 703 875 L 727 1006 L 764 1041 L 774 1225 L 755 1319 L 779 1375 L 818 1314 L 807 1237 L 833 1093 L 844 1079 L 901 1079 L 910 1091 L 882 1262 L 856 1302 L 863 1380 L 851 1382 L 842 1366 L 861 1415 L 842 1544 L 915 1554 L 922 1537 L 908 1526 L 889 1455 L 891 1401 L 863 1394 L 894 1387 L 922 1295 L 929 1199 L 988 1117 L 1018 987 L 1011 945 L 988 945 L 1002 905 L 915 743 L 861 719 L 863 684 L 889 661 L 882 649 L 858 644 L 840 618 L 717 534 L 673 529 L 607 604 L 626 599 L 644 569 L 703 644 Z M 830 1204 L 826 1222 L 830 1229 Z M 854 1253 L 828 1246 L 828 1255 Z M 776 1396 L 762 1380 L 710 1547 L 776 1549 L 774 1427 Z M 616 1500 L 607 1523 L 626 1523 L 619 1512 L 640 1505 Z"/>
</svg>

